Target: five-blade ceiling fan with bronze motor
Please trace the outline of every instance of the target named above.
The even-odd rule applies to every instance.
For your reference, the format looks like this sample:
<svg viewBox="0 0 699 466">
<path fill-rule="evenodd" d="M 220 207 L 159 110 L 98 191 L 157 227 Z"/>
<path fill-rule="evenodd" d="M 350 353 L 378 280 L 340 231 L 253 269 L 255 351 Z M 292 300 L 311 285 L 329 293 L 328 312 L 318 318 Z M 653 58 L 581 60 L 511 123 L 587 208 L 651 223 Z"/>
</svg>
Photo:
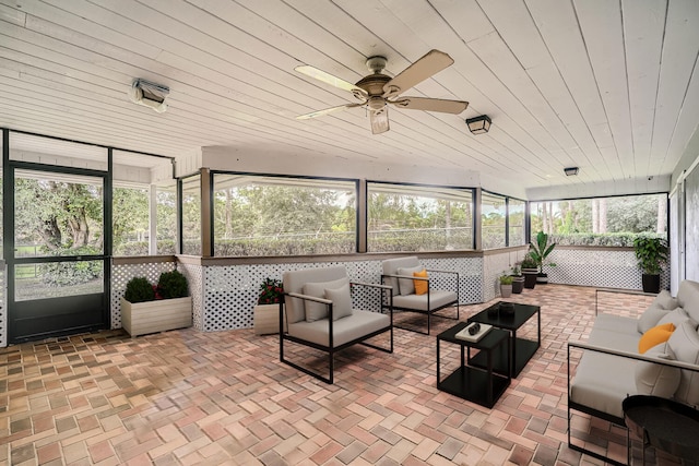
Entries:
<svg viewBox="0 0 699 466">
<path fill-rule="evenodd" d="M 367 107 L 371 122 L 371 132 L 380 134 L 389 130 L 388 104 L 408 110 L 440 111 L 445 113 L 461 113 L 469 106 L 467 101 L 446 100 L 427 97 L 401 96 L 405 91 L 422 83 L 426 79 L 437 74 L 454 60 L 443 51 L 430 50 L 423 58 L 400 72 L 395 77 L 381 73 L 386 68 L 386 57 L 370 57 L 367 59 L 367 68 L 372 74 L 365 76 L 352 84 L 337 76 L 333 76 L 322 70 L 310 65 L 296 67 L 295 70 L 323 83 L 350 91 L 359 100 L 358 103 L 339 105 L 323 110 L 299 115 L 299 120 L 322 117 L 328 113 L 354 107 Z"/>
</svg>

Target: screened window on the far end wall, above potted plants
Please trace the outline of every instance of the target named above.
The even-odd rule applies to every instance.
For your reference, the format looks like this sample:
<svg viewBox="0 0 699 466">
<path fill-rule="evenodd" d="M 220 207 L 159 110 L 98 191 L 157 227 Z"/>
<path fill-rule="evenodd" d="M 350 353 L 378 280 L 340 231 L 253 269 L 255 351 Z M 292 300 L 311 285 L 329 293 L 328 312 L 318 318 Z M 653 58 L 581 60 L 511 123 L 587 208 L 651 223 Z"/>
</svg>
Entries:
<svg viewBox="0 0 699 466">
<path fill-rule="evenodd" d="M 667 194 L 531 203 L 532 236 L 561 244 L 626 246 L 639 234 L 667 236 Z"/>
</svg>

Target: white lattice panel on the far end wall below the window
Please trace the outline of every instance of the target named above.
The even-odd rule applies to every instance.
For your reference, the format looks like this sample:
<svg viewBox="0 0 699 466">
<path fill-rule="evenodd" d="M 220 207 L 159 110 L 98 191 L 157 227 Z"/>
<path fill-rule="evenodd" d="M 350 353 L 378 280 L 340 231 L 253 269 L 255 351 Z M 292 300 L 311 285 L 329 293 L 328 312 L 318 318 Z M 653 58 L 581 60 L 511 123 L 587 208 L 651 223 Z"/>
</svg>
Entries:
<svg viewBox="0 0 699 466">
<path fill-rule="evenodd" d="M 550 283 L 601 288 L 641 289 L 641 271 L 633 251 L 555 249 L 545 267 Z M 661 275 L 661 288 L 670 287 L 670 271 Z"/>
</svg>

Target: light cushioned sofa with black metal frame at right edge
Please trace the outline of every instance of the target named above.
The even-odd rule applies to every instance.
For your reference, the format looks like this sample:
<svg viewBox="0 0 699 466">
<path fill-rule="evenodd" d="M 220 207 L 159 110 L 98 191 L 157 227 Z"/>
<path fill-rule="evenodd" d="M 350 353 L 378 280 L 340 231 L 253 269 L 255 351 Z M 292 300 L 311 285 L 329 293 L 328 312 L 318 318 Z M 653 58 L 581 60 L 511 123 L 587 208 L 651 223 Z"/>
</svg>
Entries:
<svg viewBox="0 0 699 466">
<path fill-rule="evenodd" d="M 642 335 L 657 324 L 676 327 L 666 343 L 639 353 Z M 630 395 L 654 395 L 699 405 L 699 283 L 684 280 L 677 297 L 661 291 L 638 319 L 600 313 L 588 342 L 568 342 L 568 445 L 571 409 L 624 426 L 621 404 Z M 570 354 L 582 351 L 571 377 Z"/>
</svg>

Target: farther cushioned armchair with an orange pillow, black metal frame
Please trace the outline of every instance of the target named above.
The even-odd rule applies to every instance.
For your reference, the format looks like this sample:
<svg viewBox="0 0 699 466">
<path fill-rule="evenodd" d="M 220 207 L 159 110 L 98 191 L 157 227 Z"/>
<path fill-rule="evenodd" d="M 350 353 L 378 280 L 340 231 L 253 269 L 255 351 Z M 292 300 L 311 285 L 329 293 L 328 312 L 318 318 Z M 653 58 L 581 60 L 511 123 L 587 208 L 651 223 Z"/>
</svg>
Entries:
<svg viewBox="0 0 699 466">
<path fill-rule="evenodd" d="M 419 260 L 410 255 L 406 258 L 387 259 L 381 263 L 382 275 L 381 283 L 389 285 L 392 292 L 392 301 L 384 304 L 395 310 L 418 312 L 427 315 L 427 332 L 420 332 L 414 327 L 401 326 L 401 328 L 413 332 L 425 333 L 429 335 L 430 318 L 433 315 L 459 320 L 459 273 L 452 271 L 436 271 L 425 268 L 420 265 Z M 415 272 L 426 271 L 427 277 L 416 277 Z M 430 279 L 429 275 L 441 275 L 442 285 L 439 288 L 447 288 L 447 283 L 453 289 L 438 289 L 434 287 L 435 279 Z M 415 290 L 415 280 L 426 282 L 427 290 L 425 294 L 418 295 Z M 449 307 L 455 307 L 455 316 L 440 315 L 435 312 Z M 396 325 L 399 326 L 399 325 Z"/>
</svg>

